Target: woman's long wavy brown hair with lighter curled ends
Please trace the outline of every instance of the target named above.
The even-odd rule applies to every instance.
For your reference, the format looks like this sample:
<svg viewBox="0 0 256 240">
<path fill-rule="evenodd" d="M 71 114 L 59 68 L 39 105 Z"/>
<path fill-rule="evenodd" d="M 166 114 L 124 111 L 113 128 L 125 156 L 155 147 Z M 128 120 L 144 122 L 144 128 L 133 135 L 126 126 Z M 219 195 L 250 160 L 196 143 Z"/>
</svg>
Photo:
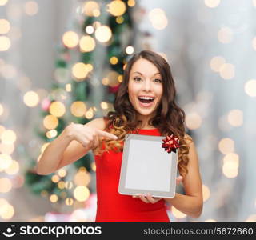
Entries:
<svg viewBox="0 0 256 240">
<path fill-rule="evenodd" d="M 114 111 L 108 112 L 106 117 L 106 128 L 111 134 L 118 136 L 118 140 L 103 139 L 105 149 L 102 146 L 94 152 L 94 154 L 102 154 L 108 150 L 116 152 L 123 150 L 123 141 L 125 135 L 131 132 L 136 132 L 138 124 L 141 122 L 137 119 L 136 110 L 130 103 L 127 93 L 128 82 L 130 78 L 130 70 L 139 58 L 144 58 L 152 62 L 159 70 L 162 76 L 163 93 L 161 102 L 158 104 L 156 114 L 150 118 L 149 124 L 158 128 L 162 136 L 174 134 L 179 138 L 180 148 L 178 151 L 178 170 L 180 174 L 185 177 L 187 174 L 187 164 L 189 146 L 186 139 L 192 141 L 189 135 L 185 133 L 185 112 L 175 103 L 176 89 L 174 79 L 172 77 L 170 66 L 165 58 L 161 55 L 150 51 L 142 50 L 138 54 L 134 54 L 132 58 L 126 63 L 124 67 L 123 81 L 121 82 L 118 93 L 114 100 Z"/>
</svg>

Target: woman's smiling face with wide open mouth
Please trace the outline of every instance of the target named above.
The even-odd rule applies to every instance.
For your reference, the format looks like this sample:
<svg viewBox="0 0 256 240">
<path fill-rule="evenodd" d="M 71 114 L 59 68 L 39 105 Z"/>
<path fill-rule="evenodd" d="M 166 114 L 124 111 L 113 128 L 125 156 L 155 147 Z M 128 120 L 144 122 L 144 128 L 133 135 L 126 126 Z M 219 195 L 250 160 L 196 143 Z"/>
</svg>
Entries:
<svg viewBox="0 0 256 240">
<path fill-rule="evenodd" d="M 144 58 L 134 62 L 128 83 L 130 103 L 138 119 L 152 118 L 162 98 L 162 78 L 158 68 Z"/>
</svg>

